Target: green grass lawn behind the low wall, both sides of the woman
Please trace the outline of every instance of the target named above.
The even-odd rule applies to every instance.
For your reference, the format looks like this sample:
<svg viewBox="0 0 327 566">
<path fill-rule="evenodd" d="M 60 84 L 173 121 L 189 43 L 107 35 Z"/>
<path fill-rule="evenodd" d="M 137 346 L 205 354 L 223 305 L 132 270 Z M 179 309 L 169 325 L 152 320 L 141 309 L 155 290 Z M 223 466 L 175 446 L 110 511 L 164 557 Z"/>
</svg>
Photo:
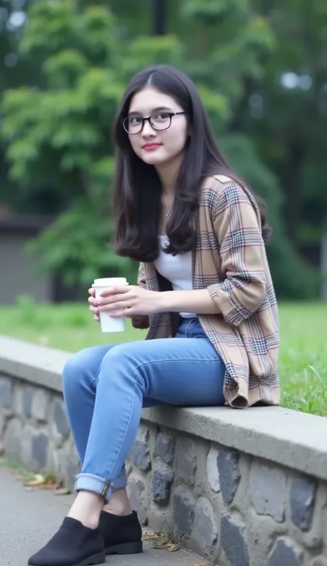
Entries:
<svg viewBox="0 0 327 566">
<path fill-rule="evenodd" d="M 280 304 L 282 404 L 327 416 L 327 303 Z M 102 334 L 88 304 L 40 305 L 21 297 L 0 308 L 0 334 L 75 352 L 96 344 L 141 340 L 145 331 L 128 323 L 126 333 Z"/>
</svg>

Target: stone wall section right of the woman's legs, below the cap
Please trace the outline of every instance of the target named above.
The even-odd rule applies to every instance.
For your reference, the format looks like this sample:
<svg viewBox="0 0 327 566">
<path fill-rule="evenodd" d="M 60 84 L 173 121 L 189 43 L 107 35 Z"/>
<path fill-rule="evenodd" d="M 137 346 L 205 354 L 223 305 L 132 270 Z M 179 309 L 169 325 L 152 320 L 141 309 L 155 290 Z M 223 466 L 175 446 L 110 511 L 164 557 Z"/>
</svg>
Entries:
<svg viewBox="0 0 327 566">
<path fill-rule="evenodd" d="M 144 523 L 219 566 L 327 566 L 327 482 L 141 424 L 128 484 Z"/>
</svg>

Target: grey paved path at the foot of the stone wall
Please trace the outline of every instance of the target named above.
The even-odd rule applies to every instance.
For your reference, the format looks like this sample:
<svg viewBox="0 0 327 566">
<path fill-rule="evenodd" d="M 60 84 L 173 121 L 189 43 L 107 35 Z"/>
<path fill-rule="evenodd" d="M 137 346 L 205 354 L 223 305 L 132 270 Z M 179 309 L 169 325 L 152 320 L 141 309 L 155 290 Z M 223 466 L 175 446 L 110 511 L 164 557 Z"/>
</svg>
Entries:
<svg viewBox="0 0 327 566">
<path fill-rule="evenodd" d="M 0 466 L 0 564 L 26 566 L 28 558 L 54 534 L 65 516 L 72 496 L 23 487 L 17 474 Z M 112 566 L 196 566 L 203 564 L 186 550 L 168 552 L 146 546 L 143 554 L 108 556 Z"/>
</svg>

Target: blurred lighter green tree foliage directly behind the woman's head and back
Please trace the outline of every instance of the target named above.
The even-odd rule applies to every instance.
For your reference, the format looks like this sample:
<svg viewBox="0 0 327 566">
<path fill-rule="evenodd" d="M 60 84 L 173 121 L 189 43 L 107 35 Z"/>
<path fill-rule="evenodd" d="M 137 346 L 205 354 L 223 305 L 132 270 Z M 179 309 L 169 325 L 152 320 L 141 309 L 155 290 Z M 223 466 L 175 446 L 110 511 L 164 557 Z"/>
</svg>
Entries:
<svg viewBox="0 0 327 566">
<path fill-rule="evenodd" d="M 68 284 L 133 269 L 106 246 L 114 166 L 110 130 L 126 81 L 139 68 L 164 62 L 195 79 L 230 161 L 266 197 L 276 228 L 270 256 L 277 291 L 301 296 L 302 266 L 284 235 L 277 179 L 248 137 L 228 133 L 244 96 L 244 77 L 262 77 L 264 56 L 275 48 L 268 19 L 247 0 L 184 0 L 176 22 L 193 30 L 194 45 L 177 34 L 135 32 L 136 24 L 130 32 L 106 3 L 32 2 L 19 52 L 39 65 L 41 80 L 6 90 L 1 133 L 12 179 L 55 187 L 65 207 L 32 246 L 41 253 L 40 268 L 61 274 Z"/>
</svg>

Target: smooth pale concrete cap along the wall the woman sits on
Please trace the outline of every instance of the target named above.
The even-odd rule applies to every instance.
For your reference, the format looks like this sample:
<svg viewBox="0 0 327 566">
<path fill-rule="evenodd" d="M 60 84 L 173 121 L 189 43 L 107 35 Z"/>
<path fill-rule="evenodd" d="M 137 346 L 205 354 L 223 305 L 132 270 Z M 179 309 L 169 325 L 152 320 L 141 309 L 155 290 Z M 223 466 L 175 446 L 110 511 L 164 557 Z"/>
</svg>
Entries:
<svg viewBox="0 0 327 566">
<path fill-rule="evenodd" d="M 0 373 L 54 391 L 72 354 L 0 336 Z M 327 419 L 284 407 L 143 409 L 142 420 L 327 480 Z"/>
</svg>

